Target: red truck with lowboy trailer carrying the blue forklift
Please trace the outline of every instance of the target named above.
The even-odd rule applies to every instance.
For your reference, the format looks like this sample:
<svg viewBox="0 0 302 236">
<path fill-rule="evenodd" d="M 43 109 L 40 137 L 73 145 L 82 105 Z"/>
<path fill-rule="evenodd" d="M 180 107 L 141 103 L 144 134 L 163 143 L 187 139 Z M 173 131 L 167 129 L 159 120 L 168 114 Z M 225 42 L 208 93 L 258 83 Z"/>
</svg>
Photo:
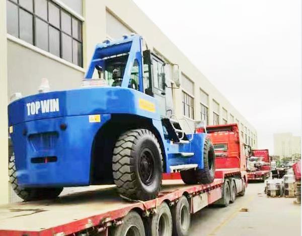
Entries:
<svg viewBox="0 0 302 236">
<path fill-rule="evenodd" d="M 237 125 L 208 127 L 208 133 L 217 156 L 212 184 L 185 185 L 179 173 L 172 173 L 164 179 L 173 180 L 164 180 L 158 197 L 149 201 L 122 200 L 115 186 L 103 186 L 54 200 L 4 205 L 0 235 L 188 235 L 191 214 L 210 204 L 228 206 L 247 186 Z"/>
</svg>

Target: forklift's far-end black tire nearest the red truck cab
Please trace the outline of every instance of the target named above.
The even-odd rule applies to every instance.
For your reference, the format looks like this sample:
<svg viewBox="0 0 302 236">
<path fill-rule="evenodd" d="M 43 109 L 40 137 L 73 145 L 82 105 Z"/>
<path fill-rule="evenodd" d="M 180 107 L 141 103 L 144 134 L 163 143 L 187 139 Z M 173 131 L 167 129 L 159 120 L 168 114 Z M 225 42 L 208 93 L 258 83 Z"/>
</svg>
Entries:
<svg viewBox="0 0 302 236">
<path fill-rule="evenodd" d="M 215 175 L 215 153 L 211 141 L 206 138 L 203 148 L 203 169 L 188 169 L 180 171 L 181 178 L 185 184 L 211 184 Z"/>
</svg>

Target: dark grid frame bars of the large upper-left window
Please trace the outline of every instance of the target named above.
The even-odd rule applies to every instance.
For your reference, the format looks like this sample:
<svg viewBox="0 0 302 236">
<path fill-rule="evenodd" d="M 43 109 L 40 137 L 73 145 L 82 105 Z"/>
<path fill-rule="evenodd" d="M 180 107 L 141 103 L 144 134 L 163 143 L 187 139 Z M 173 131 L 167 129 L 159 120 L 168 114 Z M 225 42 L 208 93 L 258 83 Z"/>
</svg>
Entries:
<svg viewBox="0 0 302 236">
<path fill-rule="evenodd" d="M 47 20 L 45 20 L 43 17 L 39 16 L 36 14 L 36 9 L 35 9 L 35 0 L 31 0 L 32 3 L 33 3 L 33 9 L 32 9 L 32 12 L 29 11 L 28 9 L 26 9 L 25 7 L 21 6 L 20 3 L 19 3 L 19 0 L 17 0 L 16 2 L 13 1 L 13 0 L 6 0 L 7 2 L 10 2 L 11 4 L 14 4 L 15 6 L 17 6 L 18 8 L 18 36 L 15 36 L 15 35 L 12 35 L 14 37 L 17 37 L 19 38 L 20 40 L 22 41 L 25 41 L 27 43 L 30 43 L 31 45 L 43 50 L 43 51 L 46 51 L 46 52 L 49 52 L 51 53 L 52 55 L 54 56 L 58 56 L 57 54 L 54 54 L 52 52 L 50 52 L 50 35 L 49 35 L 49 28 L 52 27 L 54 28 L 55 30 L 57 30 L 59 32 L 59 58 L 61 58 L 62 60 L 65 60 L 63 57 L 62 57 L 62 34 L 65 34 L 69 37 L 71 37 L 71 61 L 68 61 L 68 60 L 65 60 L 66 62 L 69 62 L 75 66 L 79 66 L 81 68 L 83 68 L 83 58 L 84 58 L 84 53 L 83 53 L 83 19 L 80 19 L 78 16 L 75 16 L 74 14 L 72 14 L 71 12 L 69 12 L 68 10 L 66 10 L 65 8 L 63 8 L 62 6 L 58 5 L 56 2 L 52 1 L 52 0 L 46 0 L 46 7 L 47 7 Z M 55 25 L 53 25 L 51 22 L 49 22 L 49 3 L 53 4 L 55 7 L 58 8 L 59 10 L 59 28 Z M 31 19 L 32 19 L 32 43 L 31 42 L 28 42 L 22 38 L 20 38 L 20 9 L 22 11 L 25 11 L 26 13 L 30 14 L 31 15 Z M 71 32 L 70 34 L 66 33 L 65 31 L 62 30 L 62 23 L 61 23 L 61 14 L 62 12 L 66 13 L 67 15 L 70 16 L 71 18 L 71 21 L 70 21 L 70 29 L 71 29 Z M 41 48 L 39 46 L 37 46 L 37 33 L 36 33 L 36 28 L 37 28 L 37 24 L 36 24 L 36 20 L 40 20 L 42 21 L 43 23 L 47 24 L 47 50 L 45 50 L 44 48 Z M 80 23 L 80 33 L 81 33 L 81 39 L 79 40 L 77 37 L 73 36 L 73 27 L 72 27 L 72 20 L 75 19 L 78 21 L 78 23 Z M 79 64 L 78 62 L 73 62 L 73 57 L 74 57 L 74 48 L 73 48 L 73 41 L 77 41 L 77 43 L 80 43 L 81 44 L 81 58 L 79 59 L 78 56 L 78 60 L 81 60 L 81 63 Z M 79 54 L 79 49 L 77 49 L 77 53 Z"/>
</svg>

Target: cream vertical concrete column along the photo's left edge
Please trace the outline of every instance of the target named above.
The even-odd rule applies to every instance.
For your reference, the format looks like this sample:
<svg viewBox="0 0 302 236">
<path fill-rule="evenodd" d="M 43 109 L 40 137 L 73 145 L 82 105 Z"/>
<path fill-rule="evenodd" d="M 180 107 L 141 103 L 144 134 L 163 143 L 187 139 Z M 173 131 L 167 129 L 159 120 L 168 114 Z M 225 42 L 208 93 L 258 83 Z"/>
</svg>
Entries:
<svg viewBox="0 0 302 236">
<path fill-rule="evenodd" d="M 0 1 L 0 204 L 9 203 L 6 1 Z"/>
</svg>

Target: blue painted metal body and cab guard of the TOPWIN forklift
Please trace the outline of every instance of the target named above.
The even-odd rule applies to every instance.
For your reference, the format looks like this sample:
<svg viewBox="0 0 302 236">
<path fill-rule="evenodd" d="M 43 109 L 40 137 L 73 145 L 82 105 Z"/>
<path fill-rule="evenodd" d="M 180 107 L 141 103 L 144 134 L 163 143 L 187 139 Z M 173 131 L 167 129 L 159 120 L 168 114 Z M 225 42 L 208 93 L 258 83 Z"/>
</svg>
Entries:
<svg viewBox="0 0 302 236">
<path fill-rule="evenodd" d="M 121 87 L 95 87 L 55 91 L 24 97 L 9 104 L 9 126 L 14 145 L 18 183 L 23 187 L 85 186 L 90 184 L 92 146 L 98 131 L 113 114 L 149 119 L 161 137 L 166 172 L 171 165 L 198 164 L 203 168 L 206 134 L 193 134 L 189 144 L 165 140 L 156 98 L 143 93 L 142 38 L 134 35 L 96 46 L 86 78 L 104 58 L 129 53 Z M 139 91 L 128 88 L 134 61 L 139 68 Z M 57 109 L 42 105 L 57 101 Z M 48 103 L 47 103 L 48 102 Z M 54 104 L 52 104 L 54 106 Z M 47 109 L 46 109 L 47 110 Z M 91 115 L 99 120 L 91 121 Z M 94 117 L 94 116 L 93 116 Z M 62 124 L 66 125 L 62 129 Z M 180 152 L 194 152 L 181 157 Z M 57 161 L 32 163 L 32 158 L 56 156 Z"/>
</svg>

